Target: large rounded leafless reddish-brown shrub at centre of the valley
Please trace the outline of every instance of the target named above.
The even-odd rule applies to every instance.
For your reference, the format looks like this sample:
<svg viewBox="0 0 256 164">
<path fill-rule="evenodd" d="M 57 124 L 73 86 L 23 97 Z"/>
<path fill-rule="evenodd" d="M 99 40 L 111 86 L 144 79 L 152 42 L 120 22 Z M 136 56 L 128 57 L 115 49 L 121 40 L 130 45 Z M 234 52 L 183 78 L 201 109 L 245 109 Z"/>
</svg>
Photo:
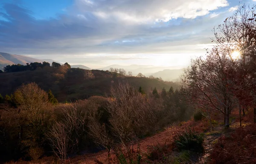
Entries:
<svg viewBox="0 0 256 164">
<path fill-rule="evenodd" d="M 111 88 L 107 109 L 113 136 L 124 147 L 133 145 L 138 137 L 145 135 L 155 120 L 146 96 L 129 84 L 119 83 Z"/>
</svg>

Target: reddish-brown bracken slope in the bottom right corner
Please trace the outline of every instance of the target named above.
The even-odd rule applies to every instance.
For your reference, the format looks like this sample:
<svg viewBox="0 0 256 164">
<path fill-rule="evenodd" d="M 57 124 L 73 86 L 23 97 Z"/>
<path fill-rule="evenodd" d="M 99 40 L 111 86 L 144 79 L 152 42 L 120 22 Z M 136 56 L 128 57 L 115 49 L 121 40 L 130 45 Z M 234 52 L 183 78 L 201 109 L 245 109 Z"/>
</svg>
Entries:
<svg viewBox="0 0 256 164">
<path fill-rule="evenodd" d="M 220 137 L 218 143 L 213 147 L 211 159 L 212 164 L 255 164 L 255 125 L 239 127 L 230 136 Z"/>
</svg>

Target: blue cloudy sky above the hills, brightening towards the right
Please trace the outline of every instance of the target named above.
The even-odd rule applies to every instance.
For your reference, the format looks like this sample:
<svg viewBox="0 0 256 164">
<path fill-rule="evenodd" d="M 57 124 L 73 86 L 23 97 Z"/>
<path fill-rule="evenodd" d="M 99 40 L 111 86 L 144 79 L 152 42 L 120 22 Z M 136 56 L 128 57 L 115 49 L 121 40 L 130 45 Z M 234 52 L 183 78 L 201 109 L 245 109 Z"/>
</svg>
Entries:
<svg viewBox="0 0 256 164">
<path fill-rule="evenodd" d="M 0 0 L 0 52 L 90 68 L 189 65 L 253 0 Z"/>
</svg>

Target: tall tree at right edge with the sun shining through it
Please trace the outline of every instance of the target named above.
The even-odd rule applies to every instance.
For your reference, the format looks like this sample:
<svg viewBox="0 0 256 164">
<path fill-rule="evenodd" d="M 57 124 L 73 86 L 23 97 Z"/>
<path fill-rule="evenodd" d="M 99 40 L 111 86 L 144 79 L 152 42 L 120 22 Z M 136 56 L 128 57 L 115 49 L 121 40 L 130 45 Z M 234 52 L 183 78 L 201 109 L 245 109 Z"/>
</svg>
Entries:
<svg viewBox="0 0 256 164">
<path fill-rule="evenodd" d="M 232 67 L 228 74 L 235 83 L 232 89 L 241 106 L 254 106 L 256 113 L 256 6 L 239 6 L 232 17 L 228 17 L 222 25 L 214 28 L 218 46 L 230 52 Z M 234 57 L 236 52 L 241 56 Z M 254 115 L 256 121 L 256 115 Z"/>
</svg>

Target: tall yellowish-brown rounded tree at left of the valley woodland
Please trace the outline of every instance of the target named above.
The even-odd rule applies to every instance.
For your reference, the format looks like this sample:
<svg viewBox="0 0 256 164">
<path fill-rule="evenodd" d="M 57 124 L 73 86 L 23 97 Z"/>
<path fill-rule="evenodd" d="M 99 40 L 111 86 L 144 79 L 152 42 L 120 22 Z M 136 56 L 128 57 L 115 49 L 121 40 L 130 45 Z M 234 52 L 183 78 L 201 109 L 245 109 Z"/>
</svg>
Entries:
<svg viewBox="0 0 256 164">
<path fill-rule="evenodd" d="M 15 91 L 14 99 L 25 118 L 20 129 L 21 146 L 26 148 L 29 156 L 39 158 L 44 153 L 42 146 L 45 144 L 45 132 L 50 121 L 47 93 L 37 84 L 29 83 Z"/>
</svg>

